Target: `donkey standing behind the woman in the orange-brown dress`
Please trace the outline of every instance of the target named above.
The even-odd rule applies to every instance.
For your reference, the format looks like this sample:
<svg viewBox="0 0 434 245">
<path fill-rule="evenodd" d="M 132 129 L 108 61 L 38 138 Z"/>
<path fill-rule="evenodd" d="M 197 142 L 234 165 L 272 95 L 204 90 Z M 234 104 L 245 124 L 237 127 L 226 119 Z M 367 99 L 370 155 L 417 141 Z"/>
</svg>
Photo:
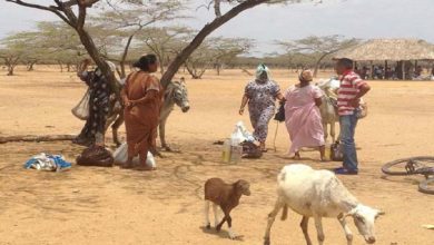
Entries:
<svg viewBox="0 0 434 245">
<path fill-rule="evenodd" d="M 161 148 L 171 151 L 171 148 L 166 141 L 166 122 L 170 116 L 170 112 L 174 110 L 175 105 L 180 107 L 183 112 L 187 112 L 190 109 L 190 104 L 188 101 L 187 87 L 181 79 L 181 81 L 171 81 L 165 91 L 165 101 L 161 107 L 160 117 L 159 117 L 159 135 L 161 141 Z M 124 110 L 118 105 L 114 107 L 111 115 L 106 124 L 106 129 L 111 125 L 111 131 L 114 141 L 117 146 L 120 146 L 118 138 L 118 129 L 124 124 Z"/>
</svg>

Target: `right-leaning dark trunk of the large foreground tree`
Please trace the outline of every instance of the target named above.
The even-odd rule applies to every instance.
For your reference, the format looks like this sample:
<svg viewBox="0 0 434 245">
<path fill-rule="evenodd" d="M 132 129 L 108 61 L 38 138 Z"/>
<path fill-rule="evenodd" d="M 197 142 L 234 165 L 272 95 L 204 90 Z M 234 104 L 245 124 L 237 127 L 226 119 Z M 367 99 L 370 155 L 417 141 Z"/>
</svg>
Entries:
<svg viewBox="0 0 434 245">
<path fill-rule="evenodd" d="M 161 85 L 167 87 L 171 79 L 175 77 L 178 69 L 187 60 L 187 58 L 203 43 L 206 37 L 208 37 L 217 28 L 238 16 L 244 10 L 250 9 L 260 3 L 267 2 L 268 0 L 249 0 L 234 7 L 227 13 L 213 20 L 213 22 L 206 24 L 193 39 L 193 41 L 178 53 L 178 56 L 171 61 L 166 72 L 161 77 Z"/>
</svg>

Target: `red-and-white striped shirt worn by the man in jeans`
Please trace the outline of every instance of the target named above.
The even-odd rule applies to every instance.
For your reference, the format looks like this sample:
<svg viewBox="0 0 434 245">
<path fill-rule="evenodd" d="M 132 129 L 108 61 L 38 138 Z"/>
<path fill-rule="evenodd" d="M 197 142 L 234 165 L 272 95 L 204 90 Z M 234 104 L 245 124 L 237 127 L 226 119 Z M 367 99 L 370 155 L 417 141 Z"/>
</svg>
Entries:
<svg viewBox="0 0 434 245">
<path fill-rule="evenodd" d="M 337 90 L 337 109 L 339 116 L 354 114 L 355 108 L 349 105 L 349 101 L 356 98 L 359 88 L 364 85 L 366 85 L 366 81 L 353 70 L 344 72 L 341 79 L 341 87 Z"/>
</svg>

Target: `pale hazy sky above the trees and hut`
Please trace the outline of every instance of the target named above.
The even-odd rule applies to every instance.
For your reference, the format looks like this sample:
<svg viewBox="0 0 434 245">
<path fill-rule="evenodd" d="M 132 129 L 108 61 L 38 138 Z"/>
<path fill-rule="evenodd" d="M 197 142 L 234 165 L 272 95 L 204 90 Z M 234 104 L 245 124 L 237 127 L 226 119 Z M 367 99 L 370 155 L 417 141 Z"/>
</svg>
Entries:
<svg viewBox="0 0 434 245">
<path fill-rule="evenodd" d="M 29 0 L 47 2 L 49 0 Z M 206 0 L 193 0 L 200 6 Z M 205 8 L 191 9 L 186 24 L 201 28 L 213 18 Z M 275 40 L 342 35 L 348 38 L 417 38 L 434 42 L 434 0 L 323 0 L 320 4 L 263 4 L 235 17 L 214 36 L 256 40 L 251 55 L 279 51 Z M 0 0 L 0 38 L 31 30 L 34 21 L 58 20 L 52 13 Z M 175 21 L 172 24 L 179 23 Z M 170 24 L 170 23 L 169 23 Z"/>
</svg>

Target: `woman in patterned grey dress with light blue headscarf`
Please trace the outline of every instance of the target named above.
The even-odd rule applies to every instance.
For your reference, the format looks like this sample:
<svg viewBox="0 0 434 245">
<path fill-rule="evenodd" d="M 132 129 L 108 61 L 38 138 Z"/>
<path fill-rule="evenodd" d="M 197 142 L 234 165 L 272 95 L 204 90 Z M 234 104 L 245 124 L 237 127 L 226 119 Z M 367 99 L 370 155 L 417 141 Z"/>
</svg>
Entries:
<svg viewBox="0 0 434 245">
<path fill-rule="evenodd" d="M 269 70 L 265 65 L 259 65 L 256 70 L 256 79 L 248 82 L 243 96 L 239 115 L 248 105 L 250 122 L 254 128 L 254 137 L 259 141 L 259 147 L 266 151 L 265 141 L 268 135 L 268 122 L 276 112 L 276 99 L 284 100 L 279 86 L 272 80 Z"/>
</svg>

